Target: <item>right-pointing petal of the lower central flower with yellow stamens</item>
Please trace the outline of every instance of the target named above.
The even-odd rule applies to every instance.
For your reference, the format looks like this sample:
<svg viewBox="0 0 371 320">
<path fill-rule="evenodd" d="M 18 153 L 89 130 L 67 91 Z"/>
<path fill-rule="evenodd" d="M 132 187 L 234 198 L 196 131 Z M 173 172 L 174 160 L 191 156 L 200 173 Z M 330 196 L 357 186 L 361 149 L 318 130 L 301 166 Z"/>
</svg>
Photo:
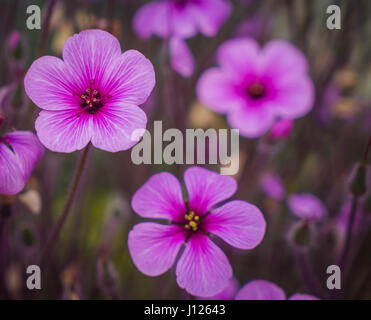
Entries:
<svg viewBox="0 0 371 320">
<path fill-rule="evenodd" d="M 266 223 L 257 207 L 234 200 L 212 210 L 202 221 L 202 226 L 231 246 L 252 249 L 263 240 Z"/>
</svg>

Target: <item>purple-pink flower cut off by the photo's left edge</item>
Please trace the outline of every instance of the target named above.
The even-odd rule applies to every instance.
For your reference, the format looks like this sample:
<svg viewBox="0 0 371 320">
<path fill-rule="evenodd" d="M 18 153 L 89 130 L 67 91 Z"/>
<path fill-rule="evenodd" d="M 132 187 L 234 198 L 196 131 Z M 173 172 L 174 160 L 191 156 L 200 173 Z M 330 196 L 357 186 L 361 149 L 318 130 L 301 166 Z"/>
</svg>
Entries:
<svg viewBox="0 0 371 320">
<path fill-rule="evenodd" d="M 43 153 L 32 132 L 15 131 L 0 137 L 0 194 L 21 192 Z"/>
</svg>

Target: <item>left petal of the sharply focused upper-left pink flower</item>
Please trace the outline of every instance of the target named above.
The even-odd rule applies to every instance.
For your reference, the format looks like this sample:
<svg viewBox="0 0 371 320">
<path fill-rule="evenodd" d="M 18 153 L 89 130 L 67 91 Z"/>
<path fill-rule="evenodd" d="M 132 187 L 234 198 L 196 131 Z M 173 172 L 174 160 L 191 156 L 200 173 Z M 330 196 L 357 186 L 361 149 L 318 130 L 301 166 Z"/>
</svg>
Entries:
<svg viewBox="0 0 371 320">
<path fill-rule="evenodd" d="M 73 74 L 61 59 L 45 56 L 32 63 L 24 86 L 39 108 L 65 110 L 77 105 L 73 91 L 79 92 L 78 82 L 77 74 Z"/>
</svg>

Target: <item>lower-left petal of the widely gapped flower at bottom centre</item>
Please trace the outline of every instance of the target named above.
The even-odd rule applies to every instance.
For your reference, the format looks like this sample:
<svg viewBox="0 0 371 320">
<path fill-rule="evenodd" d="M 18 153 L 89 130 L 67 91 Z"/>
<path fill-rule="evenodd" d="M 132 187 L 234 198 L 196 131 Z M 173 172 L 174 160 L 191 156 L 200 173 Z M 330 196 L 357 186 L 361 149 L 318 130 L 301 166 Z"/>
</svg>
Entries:
<svg viewBox="0 0 371 320">
<path fill-rule="evenodd" d="M 130 255 L 140 272 L 158 276 L 172 267 L 185 238 L 184 228 L 139 223 L 129 232 Z"/>
</svg>

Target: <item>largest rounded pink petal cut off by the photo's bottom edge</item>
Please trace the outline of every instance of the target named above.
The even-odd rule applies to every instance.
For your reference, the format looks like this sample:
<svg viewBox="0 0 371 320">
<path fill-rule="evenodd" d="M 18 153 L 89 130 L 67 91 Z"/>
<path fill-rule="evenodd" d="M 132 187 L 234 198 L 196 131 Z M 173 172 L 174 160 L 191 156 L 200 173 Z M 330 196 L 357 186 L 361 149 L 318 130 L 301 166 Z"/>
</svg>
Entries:
<svg viewBox="0 0 371 320">
<path fill-rule="evenodd" d="M 266 280 L 253 280 L 247 283 L 236 296 L 236 300 L 285 300 L 285 292 Z"/>
</svg>

